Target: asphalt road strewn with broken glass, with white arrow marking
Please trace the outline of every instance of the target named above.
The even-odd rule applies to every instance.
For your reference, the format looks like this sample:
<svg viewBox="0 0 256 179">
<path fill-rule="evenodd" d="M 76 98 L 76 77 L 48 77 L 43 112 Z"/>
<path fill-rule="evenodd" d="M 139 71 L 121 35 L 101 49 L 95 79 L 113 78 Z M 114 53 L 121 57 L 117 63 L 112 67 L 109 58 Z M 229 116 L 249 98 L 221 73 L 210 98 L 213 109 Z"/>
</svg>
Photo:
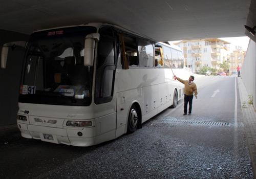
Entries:
<svg viewBox="0 0 256 179">
<path fill-rule="evenodd" d="M 191 116 L 183 116 L 181 100 L 142 129 L 97 146 L 13 134 L 0 144 L 0 178 L 253 178 L 235 80 L 198 78 Z"/>
</svg>

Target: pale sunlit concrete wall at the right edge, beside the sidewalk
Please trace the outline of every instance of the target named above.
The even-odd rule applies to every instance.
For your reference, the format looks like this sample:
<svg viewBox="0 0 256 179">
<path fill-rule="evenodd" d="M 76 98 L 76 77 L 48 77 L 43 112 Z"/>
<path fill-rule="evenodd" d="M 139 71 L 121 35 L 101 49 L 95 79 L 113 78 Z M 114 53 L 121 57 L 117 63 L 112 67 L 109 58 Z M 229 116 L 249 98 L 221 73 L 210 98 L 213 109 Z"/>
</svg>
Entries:
<svg viewBox="0 0 256 179">
<path fill-rule="evenodd" d="M 256 109 L 256 43 L 250 40 L 241 69 L 241 78 L 249 95 L 253 96 Z"/>
</svg>

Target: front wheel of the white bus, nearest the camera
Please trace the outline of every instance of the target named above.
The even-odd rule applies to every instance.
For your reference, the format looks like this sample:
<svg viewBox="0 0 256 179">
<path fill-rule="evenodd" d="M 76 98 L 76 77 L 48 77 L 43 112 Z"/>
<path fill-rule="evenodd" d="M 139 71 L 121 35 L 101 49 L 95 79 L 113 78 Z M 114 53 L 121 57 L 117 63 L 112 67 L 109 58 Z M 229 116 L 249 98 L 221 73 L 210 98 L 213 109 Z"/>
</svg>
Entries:
<svg viewBox="0 0 256 179">
<path fill-rule="evenodd" d="M 132 133 L 137 129 L 138 121 L 139 121 L 138 109 L 133 104 L 129 112 L 127 133 Z"/>
</svg>

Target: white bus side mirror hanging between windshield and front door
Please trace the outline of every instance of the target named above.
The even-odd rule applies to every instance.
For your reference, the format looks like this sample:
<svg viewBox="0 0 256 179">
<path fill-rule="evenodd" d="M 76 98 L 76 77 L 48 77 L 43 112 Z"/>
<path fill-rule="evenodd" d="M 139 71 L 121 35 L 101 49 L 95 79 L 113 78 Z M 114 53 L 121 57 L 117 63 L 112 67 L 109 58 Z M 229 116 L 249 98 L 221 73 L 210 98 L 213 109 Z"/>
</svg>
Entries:
<svg viewBox="0 0 256 179">
<path fill-rule="evenodd" d="M 99 41 L 99 33 L 88 34 L 84 41 L 84 66 L 93 66 L 95 42 Z"/>
</svg>

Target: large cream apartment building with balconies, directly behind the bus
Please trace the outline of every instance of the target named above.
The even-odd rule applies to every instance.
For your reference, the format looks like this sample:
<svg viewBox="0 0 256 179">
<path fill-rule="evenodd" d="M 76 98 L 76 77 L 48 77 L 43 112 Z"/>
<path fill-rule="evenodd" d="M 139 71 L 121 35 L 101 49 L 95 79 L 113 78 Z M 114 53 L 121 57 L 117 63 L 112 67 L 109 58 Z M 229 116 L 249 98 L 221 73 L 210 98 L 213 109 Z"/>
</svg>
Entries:
<svg viewBox="0 0 256 179">
<path fill-rule="evenodd" d="M 229 42 L 219 38 L 182 40 L 175 43 L 184 53 L 185 67 L 192 72 L 202 66 L 219 69 L 218 64 L 227 60 Z"/>
</svg>

